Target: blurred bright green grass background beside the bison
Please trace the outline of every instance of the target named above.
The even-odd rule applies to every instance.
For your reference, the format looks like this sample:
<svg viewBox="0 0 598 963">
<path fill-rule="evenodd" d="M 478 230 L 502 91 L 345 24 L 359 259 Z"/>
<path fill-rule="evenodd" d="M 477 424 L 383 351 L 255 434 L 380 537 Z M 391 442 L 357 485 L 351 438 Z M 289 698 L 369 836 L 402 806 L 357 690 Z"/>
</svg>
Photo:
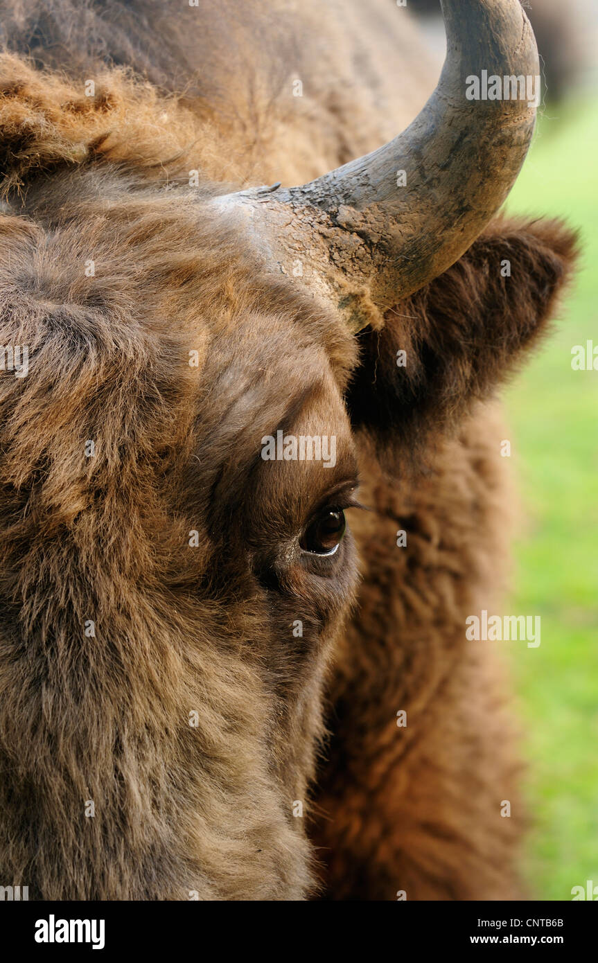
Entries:
<svg viewBox="0 0 598 963">
<path fill-rule="evenodd" d="M 408 6 L 444 57 L 437 0 Z M 523 6 L 543 104 L 507 211 L 566 219 L 583 253 L 553 337 L 506 392 L 523 503 L 508 612 L 540 614 L 542 641 L 504 651 L 528 761 L 523 869 L 533 896 L 571 899 L 598 886 L 598 370 L 571 368 L 574 346 L 598 348 L 598 0 Z"/>
</svg>

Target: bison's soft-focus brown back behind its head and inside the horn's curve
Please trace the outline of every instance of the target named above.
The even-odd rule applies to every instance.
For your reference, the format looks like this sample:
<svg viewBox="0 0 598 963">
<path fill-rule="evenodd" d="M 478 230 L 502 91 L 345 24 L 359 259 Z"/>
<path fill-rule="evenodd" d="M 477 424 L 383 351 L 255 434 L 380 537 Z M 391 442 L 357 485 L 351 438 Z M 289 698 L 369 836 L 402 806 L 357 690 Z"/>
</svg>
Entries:
<svg viewBox="0 0 598 963">
<path fill-rule="evenodd" d="M 301 183 L 389 141 L 425 102 L 427 53 L 409 19 L 400 21 L 398 30 L 386 0 L 363 10 L 341 0 L 197 0 L 193 8 L 0 0 L 0 48 L 32 58 L 8 55 L 0 76 L 7 93 L 20 88 L 29 98 L 42 169 L 90 150 L 135 165 L 164 165 L 183 151 L 184 173 Z M 407 57 L 398 86 L 388 65 Z M 90 78 L 95 93 L 86 96 Z M 57 153 L 46 149 L 51 128 Z M 34 167 L 36 149 L 28 152 Z M 178 172 L 177 163 L 168 169 Z"/>
</svg>

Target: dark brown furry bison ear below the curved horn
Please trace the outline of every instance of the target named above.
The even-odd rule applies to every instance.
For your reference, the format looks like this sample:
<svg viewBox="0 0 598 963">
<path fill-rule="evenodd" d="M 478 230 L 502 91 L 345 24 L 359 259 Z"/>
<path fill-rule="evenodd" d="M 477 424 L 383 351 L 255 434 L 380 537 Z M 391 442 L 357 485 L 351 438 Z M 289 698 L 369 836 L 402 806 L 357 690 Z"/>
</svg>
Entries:
<svg viewBox="0 0 598 963">
<path fill-rule="evenodd" d="M 547 330 L 576 254 L 559 221 L 493 221 L 380 330 L 358 335 L 348 407 L 381 460 L 422 455 L 492 394 Z"/>
</svg>

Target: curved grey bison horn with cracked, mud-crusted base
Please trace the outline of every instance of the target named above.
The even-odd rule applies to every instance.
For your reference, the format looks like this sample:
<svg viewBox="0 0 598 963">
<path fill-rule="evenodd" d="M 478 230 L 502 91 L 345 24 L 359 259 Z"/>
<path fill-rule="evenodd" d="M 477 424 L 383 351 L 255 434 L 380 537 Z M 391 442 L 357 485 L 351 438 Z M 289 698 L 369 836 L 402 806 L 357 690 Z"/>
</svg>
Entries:
<svg viewBox="0 0 598 963">
<path fill-rule="evenodd" d="M 532 139 L 539 65 L 519 0 L 441 6 L 445 65 L 403 134 L 309 184 L 221 198 L 243 201 L 271 265 L 302 272 L 357 330 L 379 325 L 386 308 L 471 246 L 507 197 Z M 486 88 L 502 98 L 482 99 Z M 477 92 L 480 99 L 469 99 Z"/>
</svg>

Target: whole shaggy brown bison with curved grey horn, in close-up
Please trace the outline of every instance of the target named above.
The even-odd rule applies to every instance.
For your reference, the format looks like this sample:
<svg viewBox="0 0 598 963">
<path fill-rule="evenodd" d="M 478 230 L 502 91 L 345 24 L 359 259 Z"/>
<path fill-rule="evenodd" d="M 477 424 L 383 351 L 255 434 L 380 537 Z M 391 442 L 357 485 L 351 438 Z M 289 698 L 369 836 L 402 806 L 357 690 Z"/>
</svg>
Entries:
<svg viewBox="0 0 598 963">
<path fill-rule="evenodd" d="M 518 0 L 442 6 L 432 92 L 390 0 L 0 0 L 0 880 L 30 898 L 521 893 L 466 619 L 504 582 L 496 393 L 576 239 L 496 217 L 535 98 L 466 96 L 538 74 Z"/>
</svg>

